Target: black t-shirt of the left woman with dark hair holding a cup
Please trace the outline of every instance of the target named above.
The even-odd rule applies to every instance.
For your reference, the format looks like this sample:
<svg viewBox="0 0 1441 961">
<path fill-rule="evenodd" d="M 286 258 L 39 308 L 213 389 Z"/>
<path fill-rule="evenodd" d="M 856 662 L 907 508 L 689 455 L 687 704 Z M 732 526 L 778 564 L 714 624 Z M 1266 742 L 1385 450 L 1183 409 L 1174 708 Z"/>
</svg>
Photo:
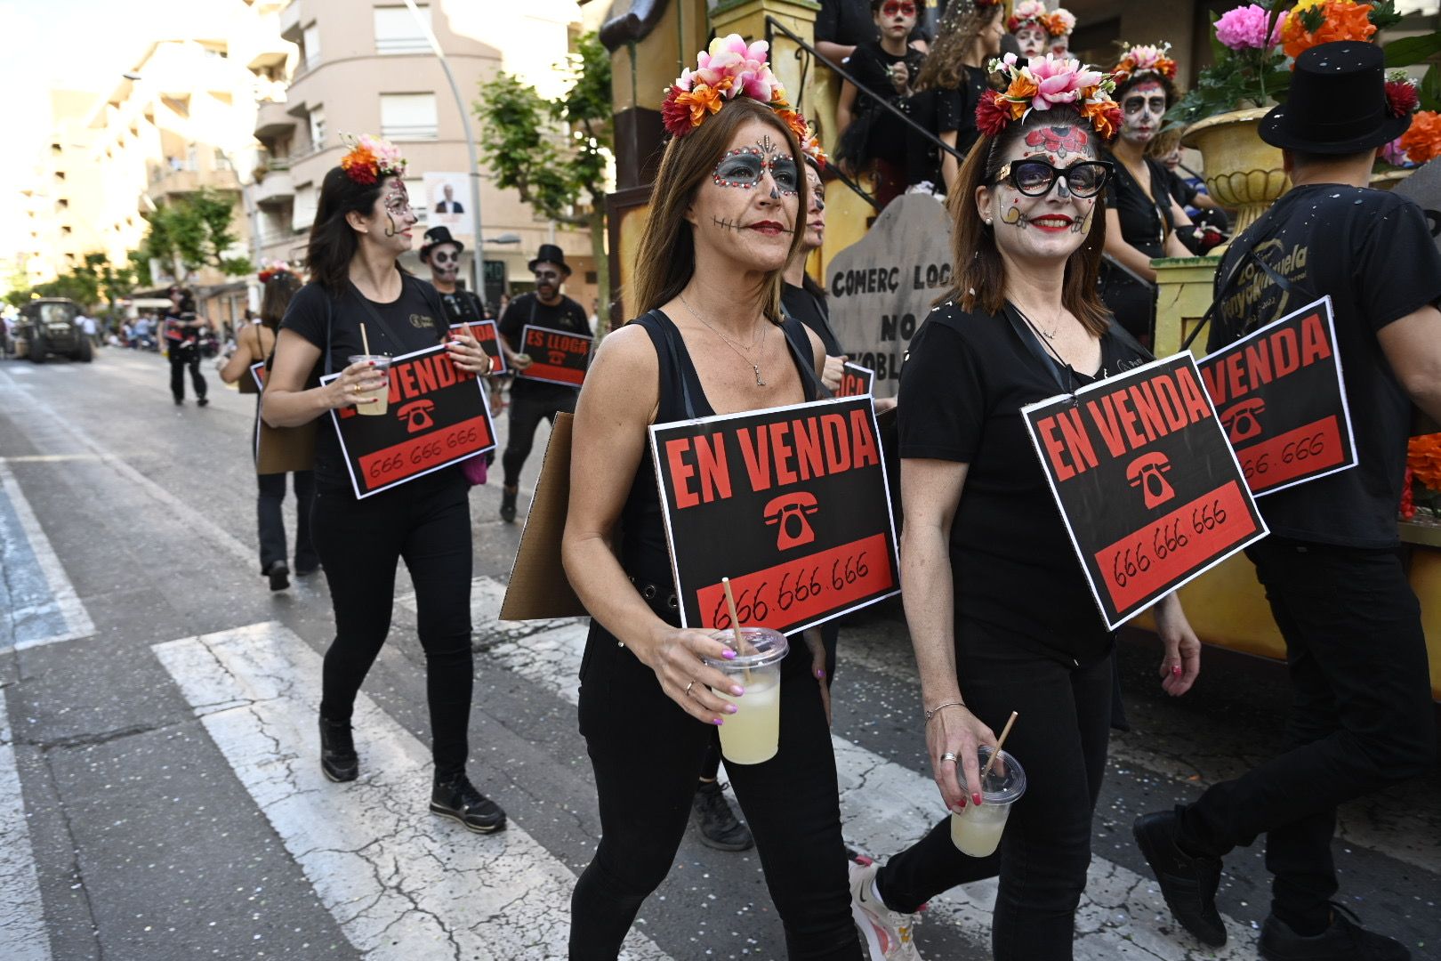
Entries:
<svg viewBox="0 0 1441 961">
<path fill-rule="evenodd" d="M 445 334 L 445 311 L 441 307 L 440 295 L 434 287 L 408 274 L 402 274 L 401 281 L 401 295 L 389 304 L 365 301 L 353 284 L 346 284 L 339 300 L 331 298 L 320 284 L 305 284 L 291 298 L 285 317 L 280 321 L 281 330 L 294 330 L 324 353 L 329 321 L 330 373 L 340 373 L 350 366 L 347 357 L 365 353 L 360 340 L 362 323 L 372 353 L 399 357 L 415 350 L 434 347 Z M 378 324 L 370 317 L 370 311 L 365 307 L 366 303 L 375 308 L 385 326 Z M 386 333 L 386 327 L 389 333 Z M 326 365 L 324 357 L 321 357 L 305 386 L 318 386 L 324 372 Z M 429 490 L 431 486 L 460 483 L 461 480 L 460 468 L 452 467 L 427 474 L 396 490 L 409 490 L 414 494 L 421 487 Z M 350 491 L 350 474 L 340 452 L 340 438 L 326 415 L 321 416 L 320 429 L 316 431 L 316 483 L 327 488 Z"/>
</svg>

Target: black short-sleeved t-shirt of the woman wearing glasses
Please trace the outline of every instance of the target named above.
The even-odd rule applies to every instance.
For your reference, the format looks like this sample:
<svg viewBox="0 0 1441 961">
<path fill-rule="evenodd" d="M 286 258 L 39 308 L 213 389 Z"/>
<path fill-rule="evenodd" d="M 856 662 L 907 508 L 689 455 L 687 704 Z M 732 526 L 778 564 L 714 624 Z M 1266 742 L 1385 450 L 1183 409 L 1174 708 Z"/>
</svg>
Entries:
<svg viewBox="0 0 1441 961">
<path fill-rule="evenodd" d="M 1097 377 L 1144 359 L 1107 333 Z M 1074 376 L 1076 386 L 1094 382 Z M 957 644 L 964 622 L 980 621 L 1066 663 L 1110 654 L 1111 633 L 1020 416 L 1061 392 L 1004 314 L 945 304 L 911 340 L 896 409 L 901 457 L 970 465 L 951 526 Z"/>
</svg>

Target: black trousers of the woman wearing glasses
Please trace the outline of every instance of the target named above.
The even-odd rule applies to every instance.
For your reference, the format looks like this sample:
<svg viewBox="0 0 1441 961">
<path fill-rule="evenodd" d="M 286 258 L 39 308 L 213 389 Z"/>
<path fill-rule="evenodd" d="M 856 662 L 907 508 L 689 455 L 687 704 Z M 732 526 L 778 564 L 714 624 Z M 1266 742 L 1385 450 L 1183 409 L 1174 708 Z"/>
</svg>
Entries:
<svg viewBox="0 0 1441 961">
<path fill-rule="evenodd" d="M 886 862 L 876 883 L 886 906 L 914 912 L 942 890 L 999 873 L 996 961 L 1065 961 L 1072 957 L 1091 863 L 1091 815 L 1105 774 L 1111 658 L 1069 667 L 974 622 L 958 624 L 957 637 L 957 674 L 976 716 L 996 733 L 1012 710 L 1025 720 L 1012 729 L 1006 752 L 1026 772 L 1026 794 L 996 854 L 977 859 L 957 850 L 947 815 Z"/>
</svg>

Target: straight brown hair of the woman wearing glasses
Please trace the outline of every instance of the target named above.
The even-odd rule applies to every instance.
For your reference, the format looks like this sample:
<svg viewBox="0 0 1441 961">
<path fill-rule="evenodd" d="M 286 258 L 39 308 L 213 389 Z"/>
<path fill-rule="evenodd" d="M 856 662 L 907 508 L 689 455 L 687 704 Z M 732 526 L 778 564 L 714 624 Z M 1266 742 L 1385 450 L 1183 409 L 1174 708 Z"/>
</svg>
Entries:
<svg viewBox="0 0 1441 961">
<path fill-rule="evenodd" d="M 1053 107 L 1030 111 L 1020 122 L 1006 125 L 996 137 L 981 137 L 961 164 L 958 183 L 951 190 L 951 256 L 955 261 L 955 287 L 942 301 L 955 301 L 963 310 L 977 307 L 999 314 L 1006 301 L 1006 264 L 996 248 L 996 233 L 976 212 L 976 189 L 994 187 L 996 176 L 1006 166 L 1006 153 L 1020 137 L 1038 127 L 1084 127 L 1091 122 L 1074 107 Z M 1099 137 L 1097 137 L 1099 143 Z M 1061 288 L 1061 304 L 1099 337 L 1111 326 L 1111 311 L 1101 303 L 1097 278 L 1101 272 L 1101 251 L 1105 246 L 1105 209 L 1097 197 L 1091 215 L 1091 229 L 1085 242 L 1066 261 L 1066 275 Z"/>
</svg>

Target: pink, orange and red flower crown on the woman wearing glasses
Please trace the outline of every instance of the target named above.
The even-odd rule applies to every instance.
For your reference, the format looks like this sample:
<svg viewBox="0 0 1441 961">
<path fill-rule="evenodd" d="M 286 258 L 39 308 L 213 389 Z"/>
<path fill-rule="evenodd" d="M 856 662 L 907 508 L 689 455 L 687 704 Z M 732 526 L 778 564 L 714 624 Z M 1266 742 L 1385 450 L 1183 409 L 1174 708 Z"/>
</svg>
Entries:
<svg viewBox="0 0 1441 961">
<path fill-rule="evenodd" d="M 976 127 L 994 137 L 1033 109 L 1075 107 L 1104 140 L 1121 128 L 1121 108 L 1111 99 L 1115 81 L 1108 73 L 1069 56 L 1033 56 L 1020 65 L 1014 53 L 990 62 L 990 72 L 1006 82 L 1003 92 L 986 91 L 976 105 Z"/>
</svg>

